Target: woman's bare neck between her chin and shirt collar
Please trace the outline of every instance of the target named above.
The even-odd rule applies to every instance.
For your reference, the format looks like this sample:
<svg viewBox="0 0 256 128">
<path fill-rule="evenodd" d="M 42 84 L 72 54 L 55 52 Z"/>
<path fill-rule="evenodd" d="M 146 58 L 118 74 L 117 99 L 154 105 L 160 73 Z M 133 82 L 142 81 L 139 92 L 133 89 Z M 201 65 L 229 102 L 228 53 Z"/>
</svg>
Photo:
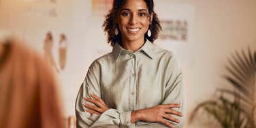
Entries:
<svg viewBox="0 0 256 128">
<path fill-rule="evenodd" d="M 122 40 L 122 47 L 126 50 L 131 50 L 135 52 L 139 50 L 144 45 L 144 43 L 144 39 L 136 41 Z"/>
</svg>

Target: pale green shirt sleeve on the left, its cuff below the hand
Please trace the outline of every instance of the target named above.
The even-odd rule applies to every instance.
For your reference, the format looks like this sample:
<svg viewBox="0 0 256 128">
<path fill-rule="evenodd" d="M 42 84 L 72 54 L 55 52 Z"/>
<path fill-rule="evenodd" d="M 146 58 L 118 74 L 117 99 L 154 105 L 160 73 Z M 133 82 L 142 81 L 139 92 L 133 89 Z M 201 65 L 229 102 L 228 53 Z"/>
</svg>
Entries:
<svg viewBox="0 0 256 128">
<path fill-rule="evenodd" d="M 103 126 L 126 127 L 131 125 L 131 112 L 119 112 L 118 110 L 112 108 L 106 110 L 106 112 L 103 112 L 101 115 L 86 112 L 86 108 L 84 108 L 83 103 L 89 102 L 85 101 L 84 98 L 91 97 L 91 93 L 101 97 L 100 68 L 99 64 L 97 63 L 94 63 L 89 67 L 86 78 L 80 86 L 76 98 L 76 125 L 78 128 Z"/>
</svg>

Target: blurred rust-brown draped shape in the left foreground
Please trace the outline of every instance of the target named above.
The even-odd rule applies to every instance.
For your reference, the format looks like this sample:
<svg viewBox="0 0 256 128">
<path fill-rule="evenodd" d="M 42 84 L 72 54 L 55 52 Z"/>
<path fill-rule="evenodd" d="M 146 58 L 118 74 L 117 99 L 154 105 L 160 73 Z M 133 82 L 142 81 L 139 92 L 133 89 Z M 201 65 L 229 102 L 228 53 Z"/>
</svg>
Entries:
<svg viewBox="0 0 256 128">
<path fill-rule="evenodd" d="M 64 127 L 50 65 L 19 39 L 0 45 L 7 53 L 0 56 L 0 127 Z"/>
</svg>

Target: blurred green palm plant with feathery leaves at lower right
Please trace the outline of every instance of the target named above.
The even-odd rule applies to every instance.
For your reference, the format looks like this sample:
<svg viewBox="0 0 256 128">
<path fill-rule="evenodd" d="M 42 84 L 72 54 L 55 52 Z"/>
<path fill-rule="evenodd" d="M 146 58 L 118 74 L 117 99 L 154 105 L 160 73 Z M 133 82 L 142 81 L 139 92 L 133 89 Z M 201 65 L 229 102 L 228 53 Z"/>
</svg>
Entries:
<svg viewBox="0 0 256 128">
<path fill-rule="evenodd" d="M 235 52 L 225 66 L 223 78 L 234 89 L 217 89 L 217 97 L 199 103 L 189 123 L 199 112 L 212 116 L 223 128 L 255 128 L 256 114 L 256 51 Z"/>
</svg>

